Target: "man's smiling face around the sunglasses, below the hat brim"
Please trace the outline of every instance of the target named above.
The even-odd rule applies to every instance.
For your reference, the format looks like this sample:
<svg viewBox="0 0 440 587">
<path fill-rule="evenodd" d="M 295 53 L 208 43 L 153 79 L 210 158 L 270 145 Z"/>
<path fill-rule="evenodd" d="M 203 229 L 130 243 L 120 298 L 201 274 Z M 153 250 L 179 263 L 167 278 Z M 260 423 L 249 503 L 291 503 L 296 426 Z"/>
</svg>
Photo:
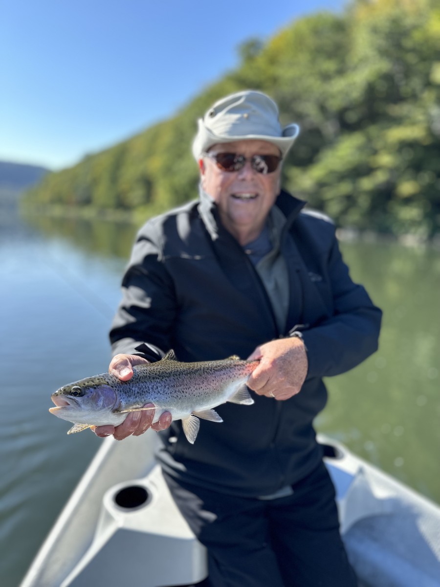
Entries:
<svg viewBox="0 0 440 587">
<path fill-rule="evenodd" d="M 237 153 L 249 160 L 253 155 L 280 155 L 275 144 L 262 140 L 216 144 L 209 152 Z M 241 170 L 231 173 L 219 169 L 212 158 L 204 157 L 199 167 L 202 187 L 217 204 L 226 230 L 242 245 L 258 237 L 280 191 L 281 165 L 273 173 L 262 174 L 246 161 Z"/>
</svg>

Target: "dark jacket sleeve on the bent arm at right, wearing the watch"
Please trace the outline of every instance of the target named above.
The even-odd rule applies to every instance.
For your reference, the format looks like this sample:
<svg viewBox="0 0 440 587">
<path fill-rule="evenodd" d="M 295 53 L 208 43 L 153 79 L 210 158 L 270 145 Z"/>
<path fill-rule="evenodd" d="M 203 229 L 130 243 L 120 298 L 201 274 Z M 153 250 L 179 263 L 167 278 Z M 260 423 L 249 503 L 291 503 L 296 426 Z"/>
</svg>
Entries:
<svg viewBox="0 0 440 587">
<path fill-rule="evenodd" d="M 327 272 L 333 315 L 302 332 L 311 377 L 333 376 L 356 367 L 378 348 L 382 312 L 364 287 L 351 281 L 336 237 Z"/>
</svg>

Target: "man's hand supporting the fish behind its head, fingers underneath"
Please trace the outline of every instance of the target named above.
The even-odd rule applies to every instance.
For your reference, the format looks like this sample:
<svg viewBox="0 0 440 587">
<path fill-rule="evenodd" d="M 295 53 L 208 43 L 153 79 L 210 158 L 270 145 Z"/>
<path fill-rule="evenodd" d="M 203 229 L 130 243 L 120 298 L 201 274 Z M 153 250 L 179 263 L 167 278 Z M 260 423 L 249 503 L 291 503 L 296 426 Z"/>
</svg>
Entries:
<svg viewBox="0 0 440 587">
<path fill-rule="evenodd" d="M 128 381 L 133 377 L 133 366 L 141 365 L 142 363 L 148 363 L 147 359 L 139 357 L 137 355 L 116 355 L 113 357 L 110 363 L 109 372 L 111 375 L 118 377 L 121 381 Z M 144 407 L 153 406 L 153 404 L 145 404 Z M 103 438 L 104 436 L 110 436 L 113 434 L 116 440 L 123 440 L 127 436 L 140 436 L 148 428 L 153 430 L 164 430 L 171 424 L 171 414 L 169 411 L 165 411 L 161 414 L 160 419 L 155 424 L 151 424 L 154 419 L 155 410 L 145 411 L 133 411 L 128 414 L 126 419 L 119 426 L 93 426 L 92 430 L 96 434 Z"/>
</svg>

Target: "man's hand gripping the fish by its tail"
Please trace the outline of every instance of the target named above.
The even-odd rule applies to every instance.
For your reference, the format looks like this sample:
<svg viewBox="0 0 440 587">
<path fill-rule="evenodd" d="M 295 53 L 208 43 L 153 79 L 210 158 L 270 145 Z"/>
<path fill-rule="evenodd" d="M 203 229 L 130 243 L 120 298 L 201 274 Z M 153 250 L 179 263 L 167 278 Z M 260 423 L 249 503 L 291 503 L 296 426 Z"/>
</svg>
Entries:
<svg viewBox="0 0 440 587">
<path fill-rule="evenodd" d="M 258 346 L 248 360 L 260 359 L 248 380 L 248 387 L 260 396 L 287 400 L 299 393 L 309 362 L 303 341 L 294 336 Z"/>
</svg>

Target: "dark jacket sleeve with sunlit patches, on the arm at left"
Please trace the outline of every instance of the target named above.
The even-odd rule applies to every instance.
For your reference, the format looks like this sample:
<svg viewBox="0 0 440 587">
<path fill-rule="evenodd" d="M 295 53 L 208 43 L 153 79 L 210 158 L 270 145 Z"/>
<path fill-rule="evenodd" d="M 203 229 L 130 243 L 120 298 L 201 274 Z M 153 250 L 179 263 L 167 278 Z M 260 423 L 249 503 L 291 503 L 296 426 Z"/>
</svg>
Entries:
<svg viewBox="0 0 440 587">
<path fill-rule="evenodd" d="M 123 298 L 110 330 L 112 354 L 161 359 L 172 347 L 177 304 L 174 285 L 151 224 L 138 234 L 122 281 Z"/>
</svg>

